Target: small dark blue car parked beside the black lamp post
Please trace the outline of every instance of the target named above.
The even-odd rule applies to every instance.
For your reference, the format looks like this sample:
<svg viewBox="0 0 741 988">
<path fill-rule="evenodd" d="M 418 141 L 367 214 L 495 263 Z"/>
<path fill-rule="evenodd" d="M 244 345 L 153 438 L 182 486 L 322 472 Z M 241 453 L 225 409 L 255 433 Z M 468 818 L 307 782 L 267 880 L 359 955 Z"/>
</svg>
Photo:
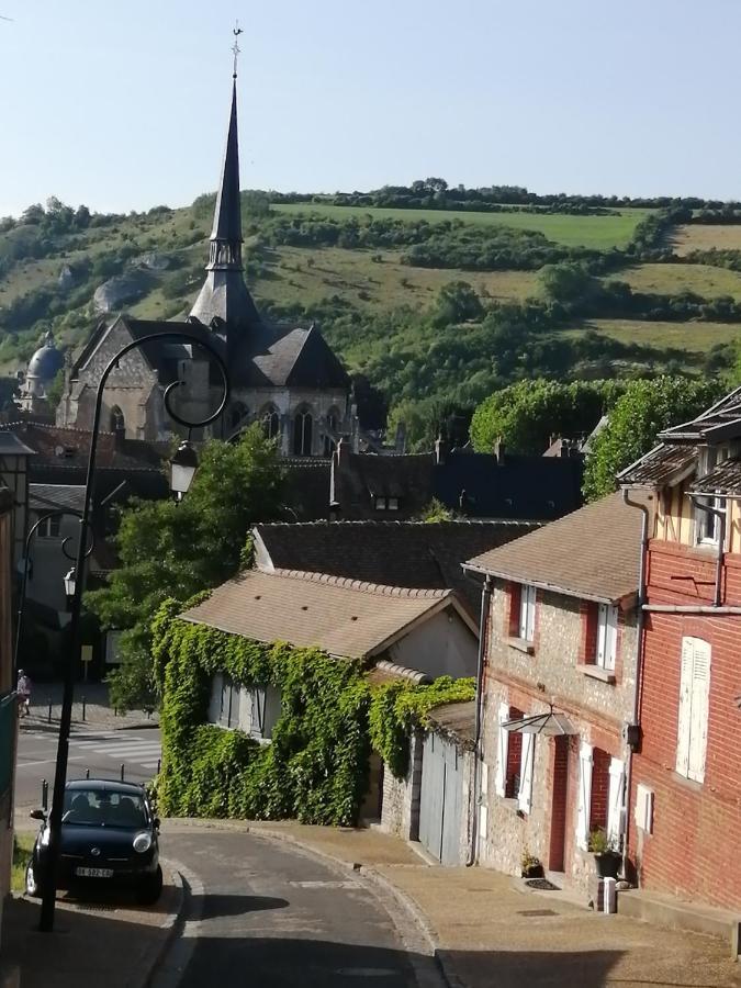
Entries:
<svg viewBox="0 0 741 988">
<path fill-rule="evenodd" d="M 49 841 L 44 810 L 25 872 L 26 895 L 42 897 L 47 880 Z M 57 888 L 115 885 L 133 888 L 137 901 L 153 905 L 162 890 L 159 820 L 146 793 L 133 783 L 76 779 L 65 787 Z"/>
</svg>

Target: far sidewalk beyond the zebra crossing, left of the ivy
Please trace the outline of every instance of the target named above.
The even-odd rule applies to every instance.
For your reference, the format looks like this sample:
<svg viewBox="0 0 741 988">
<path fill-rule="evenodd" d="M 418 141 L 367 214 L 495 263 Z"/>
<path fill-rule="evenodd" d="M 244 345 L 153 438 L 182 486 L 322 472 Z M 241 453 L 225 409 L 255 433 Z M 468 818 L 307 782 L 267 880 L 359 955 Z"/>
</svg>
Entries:
<svg viewBox="0 0 741 988">
<path fill-rule="evenodd" d="M 40 683 L 34 686 L 31 715 L 21 717 L 21 730 L 56 730 L 61 715 L 61 683 Z M 52 719 L 49 721 L 49 705 Z M 72 725 L 86 725 L 103 730 L 157 727 L 158 715 L 147 717 L 144 710 L 119 715 L 111 707 L 105 683 L 77 683 L 72 705 Z"/>
</svg>

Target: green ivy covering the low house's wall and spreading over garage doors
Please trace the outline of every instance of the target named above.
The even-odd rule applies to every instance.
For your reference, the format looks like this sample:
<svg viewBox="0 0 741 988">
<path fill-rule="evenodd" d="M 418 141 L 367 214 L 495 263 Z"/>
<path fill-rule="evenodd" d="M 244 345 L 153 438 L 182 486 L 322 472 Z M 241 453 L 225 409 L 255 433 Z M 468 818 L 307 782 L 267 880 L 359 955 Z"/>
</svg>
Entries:
<svg viewBox="0 0 741 988">
<path fill-rule="evenodd" d="M 411 727 L 430 707 L 473 695 L 472 681 L 447 677 L 373 689 L 358 660 L 250 641 L 181 621 L 181 610 L 168 600 L 153 624 L 162 736 L 157 795 L 167 816 L 352 824 L 368 784 L 371 737 L 394 774 L 400 766 L 403 773 Z M 216 673 L 280 691 L 270 744 L 206 722 Z"/>
</svg>

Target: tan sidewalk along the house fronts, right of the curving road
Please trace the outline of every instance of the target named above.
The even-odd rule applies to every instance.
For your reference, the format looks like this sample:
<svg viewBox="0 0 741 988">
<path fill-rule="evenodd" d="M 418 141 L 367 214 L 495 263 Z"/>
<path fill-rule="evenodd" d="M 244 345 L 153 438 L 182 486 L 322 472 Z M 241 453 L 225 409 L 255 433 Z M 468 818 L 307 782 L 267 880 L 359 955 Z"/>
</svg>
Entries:
<svg viewBox="0 0 741 988">
<path fill-rule="evenodd" d="M 176 821 L 172 821 L 173 823 Z M 184 822 L 184 821 L 178 821 Z M 377 830 L 232 823 L 292 841 L 401 894 L 454 988 L 738 988 L 727 943 L 604 916 L 489 868 L 444 868 Z"/>
</svg>

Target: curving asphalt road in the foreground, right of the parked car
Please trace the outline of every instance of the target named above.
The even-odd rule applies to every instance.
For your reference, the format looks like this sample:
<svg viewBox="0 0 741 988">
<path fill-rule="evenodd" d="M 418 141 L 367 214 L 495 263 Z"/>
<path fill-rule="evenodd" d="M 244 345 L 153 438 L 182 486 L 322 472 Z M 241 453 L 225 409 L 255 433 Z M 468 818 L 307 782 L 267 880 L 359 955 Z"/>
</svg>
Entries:
<svg viewBox="0 0 741 988">
<path fill-rule="evenodd" d="M 360 875 L 279 841 L 178 826 L 161 850 L 190 886 L 188 921 L 151 988 L 442 984 L 413 922 Z"/>
</svg>

